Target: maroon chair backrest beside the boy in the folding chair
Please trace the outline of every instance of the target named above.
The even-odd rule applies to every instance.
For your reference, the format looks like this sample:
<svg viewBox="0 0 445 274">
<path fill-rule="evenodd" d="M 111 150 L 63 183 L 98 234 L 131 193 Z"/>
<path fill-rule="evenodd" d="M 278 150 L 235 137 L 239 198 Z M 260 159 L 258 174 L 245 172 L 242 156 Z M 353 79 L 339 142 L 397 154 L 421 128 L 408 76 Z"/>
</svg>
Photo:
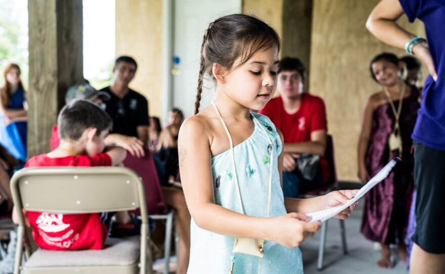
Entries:
<svg viewBox="0 0 445 274">
<path fill-rule="evenodd" d="M 136 171 L 144 183 L 145 200 L 147 202 L 148 214 L 163 214 L 167 212 L 167 206 L 162 195 L 156 165 L 150 150 L 145 148 L 145 157 L 137 158 L 127 153 L 123 161 L 125 167 Z"/>
</svg>

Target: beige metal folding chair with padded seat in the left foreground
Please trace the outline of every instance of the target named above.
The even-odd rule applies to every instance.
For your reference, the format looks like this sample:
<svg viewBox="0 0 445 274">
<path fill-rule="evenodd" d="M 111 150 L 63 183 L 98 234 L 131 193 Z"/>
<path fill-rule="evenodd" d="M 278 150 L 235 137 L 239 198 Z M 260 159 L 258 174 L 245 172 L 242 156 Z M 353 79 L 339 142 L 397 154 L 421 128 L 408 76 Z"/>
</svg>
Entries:
<svg viewBox="0 0 445 274">
<path fill-rule="evenodd" d="M 19 217 L 14 274 L 152 273 L 144 186 L 136 172 L 124 167 L 24 168 L 11 178 L 11 191 Z M 141 210 L 141 235 L 107 239 L 102 250 L 38 249 L 31 255 L 25 241 L 31 236 L 22 209 L 72 214 L 136 208 Z"/>
</svg>

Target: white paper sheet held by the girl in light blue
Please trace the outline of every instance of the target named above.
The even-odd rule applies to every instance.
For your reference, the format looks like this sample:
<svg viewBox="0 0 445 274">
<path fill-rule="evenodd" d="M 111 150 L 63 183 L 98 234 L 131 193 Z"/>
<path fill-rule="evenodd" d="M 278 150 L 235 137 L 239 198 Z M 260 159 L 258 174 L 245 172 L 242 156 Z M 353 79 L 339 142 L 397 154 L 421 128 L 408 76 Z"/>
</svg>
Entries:
<svg viewBox="0 0 445 274">
<path fill-rule="evenodd" d="M 307 216 L 311 216 L 312 217 L 310 222 L 316 222 L 316 221 L 322 221 L 323 222 L 323 221 L 325 221 L 325 220 L 327 220 L 329 218 L 334 217 L 335 215 L 337 215 L 338 213 L 340 213 L 344 209 L 348 208 L 350 205 L 355 203 L 355 201 L 357 201 L 360 198 L 362 198 L 363 195 L 365 195 L 368 191 L 370 191 L 373 187 L 375 187 L 384 178 L 386 178 L 388 176 L 389 172 L 391 171 L 391 169 L 394 167 L 394 165 L 398 161 L 402 161 L 402 160 L 400 160 L 400 158 L 398 158 L 398 157 L 395 157 L 391 161 L 389 161 L 389 163 L 387 163 L 374 177 L 372 177 L 372 179 L 370 179 L 367 182 L 367 184 L 365 186 L 363 186 L 363 188 L 361 188 L 359 190 L 359 192 L 357 192 L 355 197 L 352 198 L 351 200 L 349 200 L 348 203 L 346 203 L 346 204 L 344 204 L 342 206 L 333 207 L 333 208 L 330 208 L 330 209 L 325 209 L 325 210 L 320 210 L 320 211 L 316 211 L 316 212 L 307 213 L 306 214 Z"/>
</svg>

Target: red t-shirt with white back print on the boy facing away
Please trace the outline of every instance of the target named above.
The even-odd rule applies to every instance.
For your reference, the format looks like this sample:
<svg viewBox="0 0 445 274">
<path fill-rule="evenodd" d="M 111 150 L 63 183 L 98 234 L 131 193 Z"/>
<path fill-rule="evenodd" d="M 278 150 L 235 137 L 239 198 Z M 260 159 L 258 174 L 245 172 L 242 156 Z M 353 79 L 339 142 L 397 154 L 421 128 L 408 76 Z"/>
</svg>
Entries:
<svg viewBox="0 0 445 274">
<path fill-rule="evenodd" d="M 111 166 L 111 158 L 102 153 L 94 157 L 86 155 L 49 158 L 46 154 L 34 156 L 25 167 L 39 166 Z M 54 195 L 63 195 L 55 193 Z M 32 235 L 40 248 L 51 250 L 102 249 L 107 236 L 107 227 L 99 213 L 53 214 L 26 212 Z"/>
</svg>

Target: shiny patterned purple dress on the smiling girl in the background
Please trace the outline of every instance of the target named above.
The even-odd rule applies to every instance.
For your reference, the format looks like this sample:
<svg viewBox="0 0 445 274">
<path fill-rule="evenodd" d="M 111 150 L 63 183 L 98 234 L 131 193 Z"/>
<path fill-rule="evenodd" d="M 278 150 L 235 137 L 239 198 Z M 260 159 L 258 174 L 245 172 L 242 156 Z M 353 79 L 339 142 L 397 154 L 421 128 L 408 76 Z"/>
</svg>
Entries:
<svg viewBox="0 0 445 274">
<path fill-rule="evenodd" d="M 411 133 L 417 118 L 419 92 L 412 87 L 409 97 L 403 99 L 399 125 L 402 134 L 402 162 L 388 177 L 366 195 L 361 232 L 374 242 L 396 244 L 404 240 L 408 221 L 409 194 L 413 188 L 414 159 L 411 154 Z M 394 101 L 397 109 L 399 101 Z M 395 123 L 389 103 L 379 106 L 373 114 L 373 125 L 366 154 L 369 175 L 374 176 L 390 158 L 388 139 Z"/>
</svg>

